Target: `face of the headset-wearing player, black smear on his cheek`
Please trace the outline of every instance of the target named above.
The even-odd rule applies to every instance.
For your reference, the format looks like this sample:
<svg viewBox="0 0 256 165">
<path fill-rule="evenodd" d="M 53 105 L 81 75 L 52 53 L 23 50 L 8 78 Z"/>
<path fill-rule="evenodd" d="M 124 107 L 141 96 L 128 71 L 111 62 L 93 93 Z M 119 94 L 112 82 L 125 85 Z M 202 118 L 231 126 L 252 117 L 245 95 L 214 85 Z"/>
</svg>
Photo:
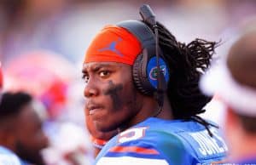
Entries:
<svg viewBox="0 0 256 165">
<path fill-rule="evenodd" d="M 84 65 L 83 75 L 85 115 L 98 130 L 127 127 L 135 120 L 142 101 L 132 82 L 131 65 L 91 62 Z"/>
</svg>

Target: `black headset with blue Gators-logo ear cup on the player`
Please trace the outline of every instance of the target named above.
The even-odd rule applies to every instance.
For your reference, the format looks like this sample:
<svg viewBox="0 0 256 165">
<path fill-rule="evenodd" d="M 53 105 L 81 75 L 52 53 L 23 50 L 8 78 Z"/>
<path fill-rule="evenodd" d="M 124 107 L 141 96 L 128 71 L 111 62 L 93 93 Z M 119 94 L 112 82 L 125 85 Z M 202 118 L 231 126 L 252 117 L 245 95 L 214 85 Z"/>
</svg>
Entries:
<svg viewBox="0 0 256 165">
<path fill-rule="evenodd" d="M 156 29 L 155 35 L 149 26 L 144 23 L 147 22 L 150 25 L 153 22 L 152 26 L 156 27 L 156 21 L 152 21 L 152 17 L 154 19 L 153 12 L 148 5 L 143 5 L 140 14 L 143 16 L 143 21 L 125 20 L 119 22 L 117 26 L 130 31 L 141 43 L 143 50 L 137 55 L 137 59 L 132 66 L 132 77 L 141 93 L 154 95 L 166 91 L 166 84 L 170 78 L 169 68 L 158 45 L 157 28 L 154 28 Z"/>
</svg>

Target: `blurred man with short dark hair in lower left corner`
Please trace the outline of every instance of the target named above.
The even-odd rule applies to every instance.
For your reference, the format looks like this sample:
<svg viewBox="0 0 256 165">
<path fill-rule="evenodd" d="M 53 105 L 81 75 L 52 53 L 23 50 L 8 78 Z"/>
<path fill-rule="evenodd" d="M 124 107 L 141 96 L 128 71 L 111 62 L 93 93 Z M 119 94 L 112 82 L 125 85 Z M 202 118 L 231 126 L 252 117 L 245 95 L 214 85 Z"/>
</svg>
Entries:
<svg viewBox="0 0 256 165">
<path fill-rule="evenodd" d="M 36 108 L 29 94 L 6 92 L 2 95 L 0 145 L 15 152 L 22 160 L 22 165 L 44 165 L 40 151 L 48 146 L 48 139 L 42 130 L 42 120 Z M 0 162 L 6 161 L 3 158 L 0 156 Z"/>
</svg>

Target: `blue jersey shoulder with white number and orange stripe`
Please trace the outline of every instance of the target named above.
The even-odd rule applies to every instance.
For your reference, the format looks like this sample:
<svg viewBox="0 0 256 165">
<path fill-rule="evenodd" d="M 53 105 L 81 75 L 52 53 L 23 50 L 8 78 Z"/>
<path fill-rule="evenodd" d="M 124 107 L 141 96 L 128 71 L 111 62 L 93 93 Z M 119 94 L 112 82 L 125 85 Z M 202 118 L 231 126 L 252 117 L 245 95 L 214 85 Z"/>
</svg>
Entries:
<svg viewBox="0 0 256 165">
<path fill-rule="evenodd" d="M 191 161 L 183 142 L 177 136 L 148 127 L 129 128 L 120 133 L 103 148 L 97 159 L 99 157 L 104 157 L 103 160 L 108 157 L 108 161 L 138 159 L 137 162 L 143 160 L 149 164 L 178 165 Z"/>
</svg>

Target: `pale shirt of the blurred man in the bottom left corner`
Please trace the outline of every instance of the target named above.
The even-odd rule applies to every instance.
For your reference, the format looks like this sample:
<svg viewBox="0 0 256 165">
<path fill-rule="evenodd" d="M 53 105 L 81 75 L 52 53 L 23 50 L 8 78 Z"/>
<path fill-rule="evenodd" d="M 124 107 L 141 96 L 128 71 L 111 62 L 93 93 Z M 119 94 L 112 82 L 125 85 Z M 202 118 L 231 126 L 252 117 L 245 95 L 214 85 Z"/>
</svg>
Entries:
<svg viewBox="0 0 256 165">
<path fill-rule="evenodd" d="M 22 165 L 22 162 L 14 152 L 0 146 L 0 165 Z"/>
</svg>

